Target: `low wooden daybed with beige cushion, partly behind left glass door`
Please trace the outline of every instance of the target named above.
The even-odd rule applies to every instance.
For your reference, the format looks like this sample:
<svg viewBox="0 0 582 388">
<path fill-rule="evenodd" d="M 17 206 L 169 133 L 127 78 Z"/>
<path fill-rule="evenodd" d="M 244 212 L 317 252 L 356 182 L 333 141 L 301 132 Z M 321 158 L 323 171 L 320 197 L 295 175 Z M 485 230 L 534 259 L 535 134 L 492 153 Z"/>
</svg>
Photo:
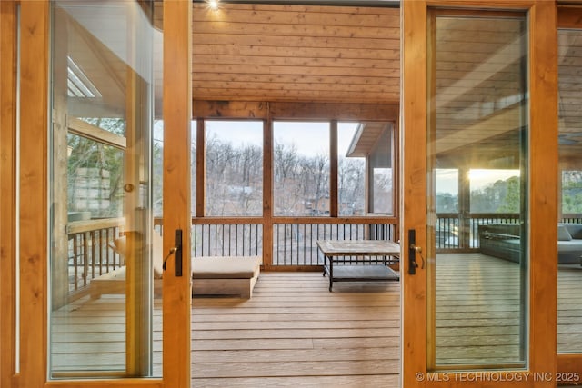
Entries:
<svg viewBox="0 0 582 388">
<path fill-rule="evenodd" d="M 125 254 L 125 236 L 115 240 L 115 251 Z M 154 293 L 162 290 L 162 237 L 154 233 Z M 261 270 L 259 256 L 206 256 L 192 258 L 193 295 L 239 295 L 250 298 Z M 101 294 L 125 293 L 125 266 L 91 281 L 92 298 Z"/>
</svg>

